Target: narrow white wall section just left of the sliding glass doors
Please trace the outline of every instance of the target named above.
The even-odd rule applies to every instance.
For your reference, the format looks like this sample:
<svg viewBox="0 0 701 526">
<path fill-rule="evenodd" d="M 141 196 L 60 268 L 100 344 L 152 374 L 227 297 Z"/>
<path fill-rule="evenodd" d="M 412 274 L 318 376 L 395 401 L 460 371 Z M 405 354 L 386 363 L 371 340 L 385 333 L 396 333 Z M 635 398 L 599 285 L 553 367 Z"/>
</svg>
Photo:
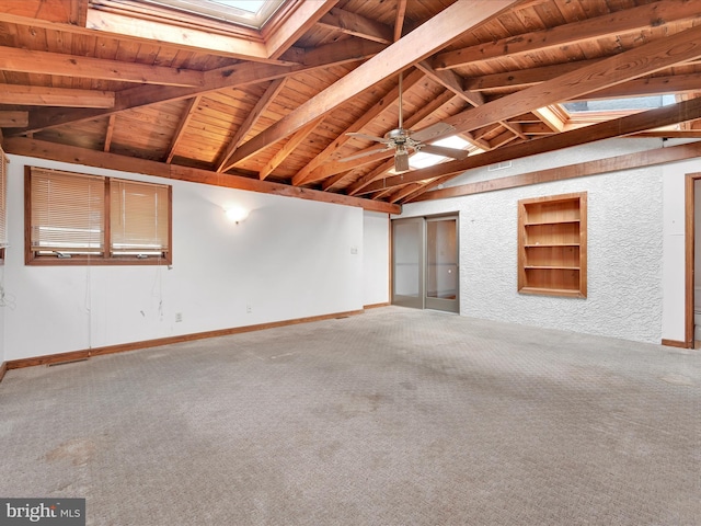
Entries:
<svg viewBox="0 0 701 526">
<path fill-rule="evenodd" d="M 389 302 L 390 221 L 387 214 L 363 214 L 363 305 Z"/>
</svg>

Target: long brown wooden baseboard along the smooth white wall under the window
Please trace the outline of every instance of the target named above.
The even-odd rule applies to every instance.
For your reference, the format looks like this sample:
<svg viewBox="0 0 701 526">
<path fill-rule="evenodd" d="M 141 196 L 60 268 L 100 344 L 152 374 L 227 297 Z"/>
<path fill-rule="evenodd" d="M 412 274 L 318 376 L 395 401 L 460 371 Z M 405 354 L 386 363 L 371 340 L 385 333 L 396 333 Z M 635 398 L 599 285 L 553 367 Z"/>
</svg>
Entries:
<svg viewBox="0 0 701 526">
<path fill-rule="evenodd" d="M 275 329 L 278 327 L 296 325 L 299 323 L 310 323 L 312 321 L 333 320 L 340 317 L 348 317 L 361 315 L 364 310 L 349 310 L 346 312 L 335 312 L 333 315 L 310 316 L 307 318 L 296 318 L 292 320 L 272 321 L 268 323 L 258 323 L 256 325 L 233 327 L 230 329 L 218 329 L 216 331 L 194 332 L 191 334 L 180 334 L 176 336 L 158 338 L 156 340 L 143 340 L 140 342 L 120 343 L 117 345 L 106 345 L 103 347 L 85 348 L 82 351 L 71 351 L 68 353 L 46 354 L 43 356 L 34 356 L 31 358 L 19 358 L 4 362 L 2 365 L 5 369 L 22 369 L 24 367 L 34 367 L 37 365 L 51 365 L 62 362 L 76 362 L 90 358 L 92 356 L 102 356 L 105 354 L 127 353 L 129 351 L 138 351 L 140 348 L 159 347 L 161 345 L 170 345 L 172 343 L 192 342 L 195 340 L 205 340 L 207 338 L 229 336 L 231 334 L 242 334 L 244 332 L 263 331 L 265 329 Z M 2 371 L 4 374 L 4 370 Z M 1 376 L 0 376 L 1 378 Z"/>
</svg>

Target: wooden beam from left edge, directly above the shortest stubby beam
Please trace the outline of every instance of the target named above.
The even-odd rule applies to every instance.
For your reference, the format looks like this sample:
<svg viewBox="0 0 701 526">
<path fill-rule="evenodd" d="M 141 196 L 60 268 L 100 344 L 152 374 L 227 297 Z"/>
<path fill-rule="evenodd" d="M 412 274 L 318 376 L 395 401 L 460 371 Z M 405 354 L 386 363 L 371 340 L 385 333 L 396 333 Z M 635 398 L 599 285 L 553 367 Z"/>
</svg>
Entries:
<svg viewBox="0 0 701 526">
<path fill-rule="evenodd" d="M 202 71 L 0 46 L 0 69 L 79 79 L 199 87 Z"/>
</svg>

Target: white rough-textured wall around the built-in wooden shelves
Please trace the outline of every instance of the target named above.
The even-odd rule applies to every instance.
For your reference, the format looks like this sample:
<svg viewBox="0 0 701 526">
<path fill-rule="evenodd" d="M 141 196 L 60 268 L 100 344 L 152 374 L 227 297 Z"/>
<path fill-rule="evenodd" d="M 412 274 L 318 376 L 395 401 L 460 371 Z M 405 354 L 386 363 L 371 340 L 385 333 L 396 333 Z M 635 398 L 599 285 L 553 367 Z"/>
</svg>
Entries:
<svg viewBox="0 0 701 526">
<path fill-rule="evenodd" d="M 559 156 L 514 161 L 507 176 L 641 149 L 611 141 Z M 657 142 L 657 147 L 659 144 Z M 600 155 L 604 153 L 604 155 Z M 471 174 L 463 175 L 463 182 Z M 484 179 L 486 170 L 473 178 Z M 521 198 L 588 193 L 588 297 L 517 293 L 517 203 Z M 512 321 L 627 340 L 662 338 L 662 169 L 630 170 L 472 196 L 406 205 L 402 217 L 460 213 L 460 283 L 463 316 Z"/>
</svg>

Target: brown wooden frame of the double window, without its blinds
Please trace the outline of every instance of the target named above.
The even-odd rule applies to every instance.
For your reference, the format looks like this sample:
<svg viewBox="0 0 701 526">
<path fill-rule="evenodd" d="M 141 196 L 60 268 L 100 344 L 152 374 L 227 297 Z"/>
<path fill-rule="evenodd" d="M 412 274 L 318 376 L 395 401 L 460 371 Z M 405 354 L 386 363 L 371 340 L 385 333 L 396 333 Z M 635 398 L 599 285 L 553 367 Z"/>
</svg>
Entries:
<svg viewBox="0 0 701 526">
<path fill-rule="evenodd" d="M 145 185 L 153 183 L 145 183 L 142 181 L 125 180 L 123 178 L 100 176 L 105 182 L 104 191 L 104 210 L 103 210 L 103 236 L 104 247 L 101 253 L 95 254 L 71 254 L 70 258 L 59 258 L 58 254 L 39 254 L 32 250 L 32 170 L 35 167 L 24 168 L 24 252 L 26 265 L 39 266 L 84 266 L 84 265 L 171 265 L 173 263 L 173 187 L 171 185 L 161 185 L 168 188 L 168 250 L 160 255 L 149 254 L 113 254 L 112 236 L 111 236 L 111 181 L 129 181 L 133 183 L 143 183 Z M 37 168 L 38 170 L 47 170 Z M 60 172 L 74 175 L 87 175 L 77 172 Z M 94 176 L 94 175 L 89 175 Z M 67 251 L 69 252 L 69 251 Z"/>
</svg>

